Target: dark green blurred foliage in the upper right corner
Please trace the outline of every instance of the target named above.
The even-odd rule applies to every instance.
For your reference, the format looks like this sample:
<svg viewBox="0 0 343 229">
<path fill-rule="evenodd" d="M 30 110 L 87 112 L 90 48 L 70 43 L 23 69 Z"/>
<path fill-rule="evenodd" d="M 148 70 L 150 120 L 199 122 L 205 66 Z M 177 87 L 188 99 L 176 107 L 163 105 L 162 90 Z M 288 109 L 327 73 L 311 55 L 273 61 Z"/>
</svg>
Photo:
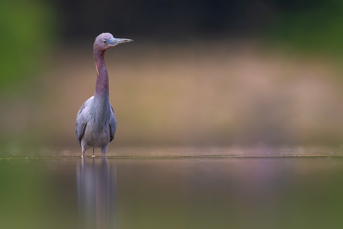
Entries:
<svg viewBox="0 0 343 229">
<path fill-rule="evenodd" d="M 343 53 L 343 1 L 291 1 L 269 28 L 275 42 L 303 50 Z"/>
</svg>

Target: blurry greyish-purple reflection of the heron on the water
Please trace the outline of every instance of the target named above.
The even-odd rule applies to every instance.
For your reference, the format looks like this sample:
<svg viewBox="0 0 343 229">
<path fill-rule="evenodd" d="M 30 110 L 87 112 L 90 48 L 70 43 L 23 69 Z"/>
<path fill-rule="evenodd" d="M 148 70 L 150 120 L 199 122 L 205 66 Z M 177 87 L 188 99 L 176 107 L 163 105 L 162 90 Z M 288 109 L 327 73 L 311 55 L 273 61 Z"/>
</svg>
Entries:
<svg viewBox="0 0 343 229">
<path fill-rule="evenodd" d="M 117 169 L 106 158 L 82 158 L 76 171 L 80 228 L 115 228 Z"/>
</svg>

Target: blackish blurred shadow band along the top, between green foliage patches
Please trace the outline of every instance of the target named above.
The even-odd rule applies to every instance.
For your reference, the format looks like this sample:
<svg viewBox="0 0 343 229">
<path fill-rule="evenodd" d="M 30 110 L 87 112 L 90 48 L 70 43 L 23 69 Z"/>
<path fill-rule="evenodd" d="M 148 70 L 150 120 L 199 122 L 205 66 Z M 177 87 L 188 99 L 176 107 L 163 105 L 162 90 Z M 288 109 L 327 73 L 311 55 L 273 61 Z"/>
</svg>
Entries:
<svg viewBox="0 0 343 229">
<path fill-rule="evenodd" d="M 63 37 L 111 30 L 128 36 L 247 35 L 265 29 L 275 13 L 297 8 L 279 1 L 58 1 Z M 79 13 L 75 13 L 79 12 Z M 92 15 L 92 16 L 90 16 Z M 214 34 L 213 34 L 214 33 Z"/>
</svg>

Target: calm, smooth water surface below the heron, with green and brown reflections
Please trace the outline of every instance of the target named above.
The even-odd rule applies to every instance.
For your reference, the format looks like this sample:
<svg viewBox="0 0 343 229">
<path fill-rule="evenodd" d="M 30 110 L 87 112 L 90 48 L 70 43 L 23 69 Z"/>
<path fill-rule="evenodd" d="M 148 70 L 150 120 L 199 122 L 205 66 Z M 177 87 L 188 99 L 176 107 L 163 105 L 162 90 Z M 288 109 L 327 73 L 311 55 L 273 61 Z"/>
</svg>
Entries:
<svg viewBox="0 0 343 229">
<path fill-rule="evenodd" d="M 0 160 L 1 228 L 342 228 L 343 157 Z"/>
</svg>

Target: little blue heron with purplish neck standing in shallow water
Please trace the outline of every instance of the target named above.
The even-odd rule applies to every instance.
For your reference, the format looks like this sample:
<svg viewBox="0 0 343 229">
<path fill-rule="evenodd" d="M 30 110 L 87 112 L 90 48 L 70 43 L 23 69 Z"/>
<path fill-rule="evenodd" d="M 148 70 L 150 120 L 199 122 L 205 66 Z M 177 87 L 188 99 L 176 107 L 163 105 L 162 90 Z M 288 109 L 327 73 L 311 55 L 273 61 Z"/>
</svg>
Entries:
<svg viewBox="0 0 343 229">
<path fill-rule="evenodd" d="M 76 116 L 76 137 L 82 147 L 82 157 L 89 148 L 101 148 L 105 157 L 108 144 L 113 140 L 117 119 L 109 102 L 108 73 L 105 66 L 105 52 L 130 39 L 114 38 L 110 33 L 102 33 L 95 38 L 94 59 L 97 71 L 94 96 L 80 108 Z"/>
</svg>

